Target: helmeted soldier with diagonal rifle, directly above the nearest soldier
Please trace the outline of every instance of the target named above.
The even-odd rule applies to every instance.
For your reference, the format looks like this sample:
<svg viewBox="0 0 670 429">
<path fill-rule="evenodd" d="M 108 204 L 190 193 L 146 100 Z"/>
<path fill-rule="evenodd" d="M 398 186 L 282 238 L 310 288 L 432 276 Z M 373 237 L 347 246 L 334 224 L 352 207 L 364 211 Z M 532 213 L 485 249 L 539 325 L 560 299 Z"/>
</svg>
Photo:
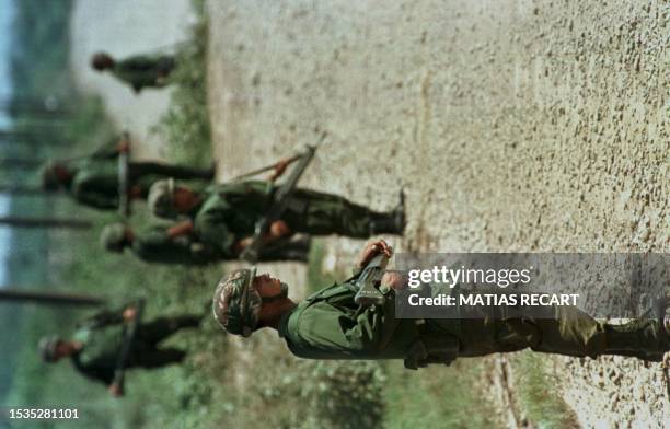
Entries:
<svg viewBox="0 0 670 429">
<path fill-rule="evenodd" d="M 278 170 L 281 169 L 279 165 Z M 204 244 L 240 254 L 251 243 L 257 222 L 272 207 L 274 190 L 269 181 L 218 184 L 201 193 L 177 186 L 173 181 L 161 181 L 151 187 L 148 204 L 151 212 L 161 218 L 188 217 L 182 228 L 188 233 L 194 231 Z M 402 235 L 404 229 L 402 195 L 394 210 L 379 212 L 337 195 L 297 188 L 281 219 L 272 223 L 263 240 L 270 244 L 293 233 L 367 239 L 372 234 Z"/>
</svg>

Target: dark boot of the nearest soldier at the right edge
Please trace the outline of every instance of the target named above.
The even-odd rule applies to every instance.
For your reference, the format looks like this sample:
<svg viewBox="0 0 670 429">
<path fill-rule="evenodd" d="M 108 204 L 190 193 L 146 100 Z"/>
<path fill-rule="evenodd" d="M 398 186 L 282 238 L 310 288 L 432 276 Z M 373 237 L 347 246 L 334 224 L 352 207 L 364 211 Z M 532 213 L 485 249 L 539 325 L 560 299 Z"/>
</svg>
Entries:
<svg viewBox="0 0 670 429">
<path fill-rule="evenodd" d="M 658 320 L 639 318 L 624 325 L 604 325 L 605 353 L 635 356 L 660 362 L 670 351 L 668 332 Z"/>
</svg>

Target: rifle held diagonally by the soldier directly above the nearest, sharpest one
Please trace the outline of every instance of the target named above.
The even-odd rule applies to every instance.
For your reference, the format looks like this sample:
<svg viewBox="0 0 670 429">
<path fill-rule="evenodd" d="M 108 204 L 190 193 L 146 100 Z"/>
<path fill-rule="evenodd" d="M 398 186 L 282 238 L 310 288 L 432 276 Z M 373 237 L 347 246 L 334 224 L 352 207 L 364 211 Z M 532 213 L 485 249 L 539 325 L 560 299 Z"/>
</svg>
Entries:
<svg viewBox="0 0 670 429">
<path fill-rule="evenodd" d="M 325 139 L 325 135 L 323 136 L 322 141 L 323 139 Z M 244 260 L 249 262 L 250 264 L 255 264 L 258 260 L 261 248 L 265 244 L 265 235 L 269 231 L 273 222 L 281 218 L 281 215 L 284 215 L 284 211 L 289 204 L 289 197 L 296 189 L 296 185 L 298 184 L 300 176 L 302 176 L 302 173 L 304 173 L 307 170 L 308 165 L 312 161 L 312 158 L 314 158 L 315 151 L 315 146 L 308 146 L 304 153 L 300 155 L 298 165 L 296 165 L 296 167 L 291 171 L 291 175 L 275 192 L 275 201 L 273 206 L 267 215 L 256 223 L 254 237 L 251 244 L 244 247 L 244 251 L 242 251 L 242 254 L 240 255 Z"/>
</svg>

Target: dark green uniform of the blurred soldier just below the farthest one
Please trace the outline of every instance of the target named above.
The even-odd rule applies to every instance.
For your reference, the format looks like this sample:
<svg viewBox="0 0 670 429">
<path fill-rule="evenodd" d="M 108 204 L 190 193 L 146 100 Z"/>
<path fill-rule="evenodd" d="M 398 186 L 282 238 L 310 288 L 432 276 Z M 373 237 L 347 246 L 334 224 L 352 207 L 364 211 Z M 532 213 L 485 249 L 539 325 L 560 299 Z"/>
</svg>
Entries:
<svg viewBox="0 0 670 429">
<path fill-rule="evenodd" d="M 113 139 L 89 156 L 61 163 L 72 174 L 67 189 L 78 202 L 102 210 L 118 208 L 117 142 Z M 166 177 L 209 182 L 213 172 L 155 162 L 128 163 L 129 185 L 139 186 L 142 197 L 151 184 Z"/>
</svg>

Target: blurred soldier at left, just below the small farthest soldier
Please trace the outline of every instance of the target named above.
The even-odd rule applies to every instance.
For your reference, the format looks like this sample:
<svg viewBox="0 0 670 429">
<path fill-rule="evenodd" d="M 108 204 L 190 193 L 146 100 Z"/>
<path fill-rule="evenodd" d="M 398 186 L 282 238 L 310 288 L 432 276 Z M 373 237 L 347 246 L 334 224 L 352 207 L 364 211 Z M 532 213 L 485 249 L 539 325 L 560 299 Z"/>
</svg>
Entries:
<svg viewBox="0 0 670 429">
<path fill-rule="evenodd" d="M 127 153 L 126 139 L 112 139 L 89 156 L 47 164 L 42 171 L 45 190 L 66 189 L 80 204 L 96 209 L 117 209 L 119 205 L 118 156 Z M 152 183 L 165 178 L 198 179 L 209 183 L 213 169 L 192 169 L 155 162 L 128 163 L 129 198 L 146 199 Z"/>
</svg>

